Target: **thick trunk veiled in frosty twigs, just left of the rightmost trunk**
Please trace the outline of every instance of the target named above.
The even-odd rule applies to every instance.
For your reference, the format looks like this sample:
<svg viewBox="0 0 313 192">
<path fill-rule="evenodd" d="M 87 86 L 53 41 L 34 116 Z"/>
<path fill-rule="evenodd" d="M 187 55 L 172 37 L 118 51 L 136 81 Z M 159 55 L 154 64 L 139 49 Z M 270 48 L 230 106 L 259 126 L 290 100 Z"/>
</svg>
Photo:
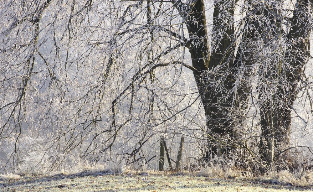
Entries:
<svg viewBox="0 0 313 192">
<path fill-rule="evenodd" d="M 283 1 L 277 1 L 271 3 L 269 6 L 262 7 L 262 14 L 268 20 L 263 23 L 264 32 L 260 33 L 260 40 L 263 41 L 265 46 L 271 46 L 273 44 L 273 38 L 277 39 L 280 34 L 281 21 L 280 11 L 283 6 Z M 282 61 L 278 61 L 277 65 L 280 65 Z M 273 63 L 275 65 L 275 63 Z M 276 111 L 280 106 L 273 96 L 275 91 L 271 91 L 272 84 L 278 78 L 279 72 L 277 67 L 273 64 L 265 63 L 259 67 L 259 107 L 260 107 L 260 124 L 261 124 L 261 138 L 259 142 L 259 153 L 261 159 L 271 169 L 274 163 L 274 148 L 275 148 L 275 127 L 278 122 Z M 264 171 L 264 170 L 261 170 Z"/>
</svg>

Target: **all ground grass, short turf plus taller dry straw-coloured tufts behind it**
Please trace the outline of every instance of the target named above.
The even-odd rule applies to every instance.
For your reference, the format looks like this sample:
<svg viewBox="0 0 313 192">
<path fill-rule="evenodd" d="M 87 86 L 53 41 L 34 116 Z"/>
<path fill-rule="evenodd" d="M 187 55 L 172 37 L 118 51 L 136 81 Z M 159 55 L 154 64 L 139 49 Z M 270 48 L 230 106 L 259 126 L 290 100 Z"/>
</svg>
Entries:
<svg viewBox="0 0 313 192">
<path fill-rule="evenodd" d="M 252 177 L 211 164 L 200 171 L 151 171 L 113 164 L 77 164 L 41 175 L 0 175 L 0 191 L 312 191 L 313 172 L 283 171 Z"/>
</svg>

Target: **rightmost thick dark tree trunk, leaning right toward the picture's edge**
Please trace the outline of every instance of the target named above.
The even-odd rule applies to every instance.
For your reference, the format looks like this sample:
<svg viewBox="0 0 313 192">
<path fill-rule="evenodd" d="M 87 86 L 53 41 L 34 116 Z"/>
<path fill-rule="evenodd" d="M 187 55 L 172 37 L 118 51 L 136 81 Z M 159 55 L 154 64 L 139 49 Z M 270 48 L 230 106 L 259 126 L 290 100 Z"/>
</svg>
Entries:
<svg viewBox="0 0 313 192">
<path fill-rule="evenodd" d="M 290 145 L 292 106 L 298 96 L 298 83 L 303 77 L 305 64 L 310 54 L 309 37 L 313 27 L 310 25 L 310 19 L 312 19 L 310 18 L 312 13 L 310 3 L 313 1 L 298 0 L 296 2 L 292 26 L 287 37 L 290 41 L 285 53 L 287 65 L 283 66 L 282 71 L 285 75 L 281 76 L 281 85 L 278 89 L 280 92 L 276 94 L 280 99 L 280 107 L 276 113 L 278 123 L 275 124 L 275 143 L 277 143 L 275 156 Z"/>
</svg>

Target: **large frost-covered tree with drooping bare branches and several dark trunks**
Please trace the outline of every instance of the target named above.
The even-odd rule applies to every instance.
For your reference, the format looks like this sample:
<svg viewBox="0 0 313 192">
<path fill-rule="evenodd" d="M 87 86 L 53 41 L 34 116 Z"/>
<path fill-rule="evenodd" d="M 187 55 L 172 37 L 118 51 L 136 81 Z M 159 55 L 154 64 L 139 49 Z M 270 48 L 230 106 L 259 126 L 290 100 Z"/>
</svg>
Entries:
<svg viewBox="0 0 313 192">
<path fill-rule="evenodd" d="M 1 3 L 3 169 L 33 150 L 50 169 L 151 166 L 162 134 L 186 135 L 197 163 L 273 169 L 299 147 L 292 122 L 310 134 L 311 0 Z"/>
</svg>

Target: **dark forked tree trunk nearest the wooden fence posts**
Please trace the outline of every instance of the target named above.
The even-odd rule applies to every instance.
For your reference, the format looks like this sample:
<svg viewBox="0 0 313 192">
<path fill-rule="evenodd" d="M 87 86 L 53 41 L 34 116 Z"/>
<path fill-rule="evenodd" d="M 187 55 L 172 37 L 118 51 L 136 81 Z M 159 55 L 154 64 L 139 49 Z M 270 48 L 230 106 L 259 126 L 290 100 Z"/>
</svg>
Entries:
<svg viewBox="0 0 313 192">
<path fill-rule="evenodd" d="M 219 4 L 225 3 L 224 1 L 215 1 L 215 8 L 213 12 L 213 26 L 214 30 L 221 28 L 224 22 L 222 18 L 218 18 L 221 12 Z M 235 5 L 231 5 L 228 8 L 230 14 L 233 15 Z M 191 45 L 189 48 L 192 66 L 198 70 L 194 72 L 194 77 L 198 86 L 200 95 L 202 96 L 202 102 L 207 122 L 207 132 L 210 136 L 208 137 L 208 151 L 206 153 L 206 159 L 212 155 L 213 157 L 219 154 L 219 144 L 215 139 L 220 136 L 234 138 L 236 133 L 232 129 L 232 120 L 228 117 L 227 108 L 229 102 L 221 102 L 221 99 L 227 93 L 221 90 L 214 90 L 209 85 L 209 78 L 206 71 L 212 70 L 214 67 L 219 65 L 225 65 L 223 69 L 229 69 L 233 67 L 234 60 L 234 42 L 230 37 L 234 36 L 234 28 L 232 24 L 226 27 L 225 34 L 222 35 L 220 43 L 216 51 L 210 56 L 210 50 L 208 45 L 208 32 L 206 26 L 206 16 L 204 9 L 203 0 L 198 0 L 188 17 L 187 29 L 189 37 L 191 39 Z M 223 71 L 221 71 L 223 73 Z M 229 90 L 231 84 L 225 82 L 223 85 Z M 223 105 L 223 106 L 222 106 Z M 228 154 L 230 151 L 229 147 L 224 147 L 221 152 Z"/>
</svg>

